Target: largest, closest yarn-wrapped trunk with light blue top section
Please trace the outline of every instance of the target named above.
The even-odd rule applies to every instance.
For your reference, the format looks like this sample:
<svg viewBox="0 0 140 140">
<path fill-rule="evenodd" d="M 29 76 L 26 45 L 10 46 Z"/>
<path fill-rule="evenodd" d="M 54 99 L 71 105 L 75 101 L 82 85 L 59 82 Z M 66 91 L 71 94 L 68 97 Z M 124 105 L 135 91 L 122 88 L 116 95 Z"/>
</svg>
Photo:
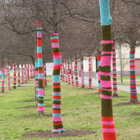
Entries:
<svg viewBox="0 0 140 140">
<path fill-rule="evenodd" d="M 116 131 L 113 121 L 112 85 L 111 85 L 111 54 L 112 34 L 109 0 L 100 0 L 102 56 L 99 65 L 101 78 L 101 116 L 104 140 L 116 140 Z"/>
</svg>

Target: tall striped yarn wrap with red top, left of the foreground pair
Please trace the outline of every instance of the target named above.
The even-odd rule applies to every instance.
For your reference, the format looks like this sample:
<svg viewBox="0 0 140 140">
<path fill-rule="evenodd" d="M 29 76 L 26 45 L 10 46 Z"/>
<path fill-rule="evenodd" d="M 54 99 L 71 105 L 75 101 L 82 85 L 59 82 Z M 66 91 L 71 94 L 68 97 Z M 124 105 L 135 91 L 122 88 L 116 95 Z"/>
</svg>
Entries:
<svg viewBox="0 0 140 140">
<path fill-rule="evenodd" d="M 37 22 L 37 62 L 38 62 L 38 112 L 44 111 L 42 24 Z"/>
</svg>

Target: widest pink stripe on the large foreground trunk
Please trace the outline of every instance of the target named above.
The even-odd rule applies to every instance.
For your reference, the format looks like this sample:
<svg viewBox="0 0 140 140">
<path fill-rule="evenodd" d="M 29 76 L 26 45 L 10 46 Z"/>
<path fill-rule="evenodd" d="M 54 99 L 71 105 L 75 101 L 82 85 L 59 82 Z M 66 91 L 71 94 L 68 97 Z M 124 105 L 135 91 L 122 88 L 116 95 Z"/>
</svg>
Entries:
<svg viewBox="0 0 140 140">
<path fill-rule="evenodd" d="M 111 65 L 111 56 L 102 56 L 99 66 L 110 66 Z"/>
</svg>

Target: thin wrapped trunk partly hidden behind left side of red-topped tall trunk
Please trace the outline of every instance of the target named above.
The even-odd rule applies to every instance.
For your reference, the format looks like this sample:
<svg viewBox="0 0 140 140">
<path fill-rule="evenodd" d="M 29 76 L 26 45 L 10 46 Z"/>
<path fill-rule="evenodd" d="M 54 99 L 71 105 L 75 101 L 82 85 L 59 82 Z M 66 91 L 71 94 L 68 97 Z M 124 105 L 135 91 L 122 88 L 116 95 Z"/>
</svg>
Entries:
<svg viewBox="0 0 140 140">
<path fill-rule="evenodd" d="M 35 62 L 35 100 L 36 106 L 38 104 L 38 63 Z"/>
</svg>

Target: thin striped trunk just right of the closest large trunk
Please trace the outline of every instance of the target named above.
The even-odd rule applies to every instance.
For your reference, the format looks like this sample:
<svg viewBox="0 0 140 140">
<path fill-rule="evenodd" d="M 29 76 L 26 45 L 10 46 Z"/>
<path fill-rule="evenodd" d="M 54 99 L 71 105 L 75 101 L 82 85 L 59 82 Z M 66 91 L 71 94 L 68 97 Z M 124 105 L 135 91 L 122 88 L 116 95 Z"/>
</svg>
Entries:
<svg viewBox="0 0 140 140">
<path fill-rule="evenodd" d="M 112 63 L 113 63 L 113 96 L 118 96 L 115 43 L 113 43 L 112 46 Z"/>
</svg>

